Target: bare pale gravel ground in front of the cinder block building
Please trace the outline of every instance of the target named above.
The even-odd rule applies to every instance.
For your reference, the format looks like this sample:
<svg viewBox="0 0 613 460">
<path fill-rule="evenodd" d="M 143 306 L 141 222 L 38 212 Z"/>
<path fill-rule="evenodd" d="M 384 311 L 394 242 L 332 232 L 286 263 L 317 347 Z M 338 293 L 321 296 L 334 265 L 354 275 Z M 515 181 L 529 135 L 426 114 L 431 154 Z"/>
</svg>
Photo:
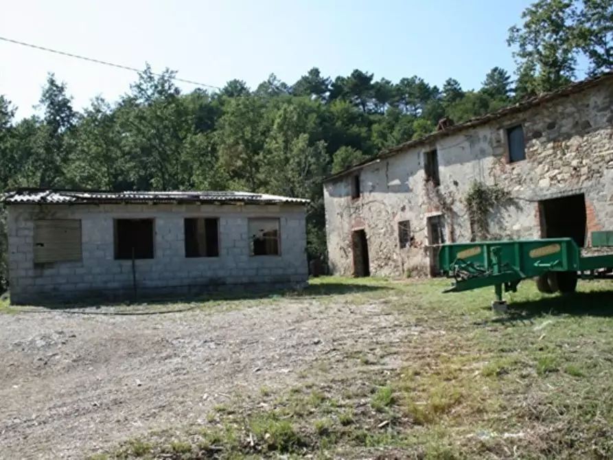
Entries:
<svg viewBox="0 0 613 460">
<path fill-rule="evenodd" d="M 80 459 L 148 430 L 198 423 L 236 390 L 289 387 L 320 358 L 403 334 L 402 320 L 381 304 L 310 299 L 213 312 L 23 312 L 0 321 L 5 459 Z"/>
</svg>

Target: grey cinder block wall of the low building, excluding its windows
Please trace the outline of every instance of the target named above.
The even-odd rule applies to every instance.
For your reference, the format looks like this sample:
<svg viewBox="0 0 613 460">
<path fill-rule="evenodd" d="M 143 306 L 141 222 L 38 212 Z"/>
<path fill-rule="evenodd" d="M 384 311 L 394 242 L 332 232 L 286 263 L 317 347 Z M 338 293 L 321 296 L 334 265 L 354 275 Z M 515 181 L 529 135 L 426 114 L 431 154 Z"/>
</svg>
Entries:
<svg viewBox="0 0 613 460">
<path fill-rule="evenodd" d="M 219 257 L 185 257 L 184 219 L 219 218 Z M 251 256 L 248 218 L 279 218 L 281 255 Z M 81 220 L 82 261 L 34 264 L 34 220 Z M 12 303 L 133 294 L 132 261 L 115 260 L 113 220 L 154 219 L 154 258 L 136 260 L 140 295 L 287 288 L 308 279 L 305 210 L 295 205 L 10 205 Z"/>
</svg>

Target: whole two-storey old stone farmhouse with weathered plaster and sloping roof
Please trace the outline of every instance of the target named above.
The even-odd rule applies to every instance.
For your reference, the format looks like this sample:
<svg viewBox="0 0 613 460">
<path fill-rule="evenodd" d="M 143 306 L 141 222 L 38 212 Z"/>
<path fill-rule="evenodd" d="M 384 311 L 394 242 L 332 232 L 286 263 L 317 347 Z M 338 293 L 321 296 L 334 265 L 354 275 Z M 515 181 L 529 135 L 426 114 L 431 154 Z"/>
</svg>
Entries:
<svg viewBox="0 0 613 460">
<path fill-rule="evenodd" d="M 324 181 L 337 275 L 438 275 L 439 244 L 613 229 L 613 73 L 380 152 Z"/>
</svg>

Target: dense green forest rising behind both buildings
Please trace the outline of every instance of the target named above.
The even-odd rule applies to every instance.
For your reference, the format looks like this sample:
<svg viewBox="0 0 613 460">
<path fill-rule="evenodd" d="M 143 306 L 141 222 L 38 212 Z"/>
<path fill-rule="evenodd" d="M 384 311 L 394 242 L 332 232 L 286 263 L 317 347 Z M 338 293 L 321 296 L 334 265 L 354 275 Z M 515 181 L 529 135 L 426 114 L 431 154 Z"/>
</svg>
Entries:
<svg viewBox="0 0 613 460">
<path fill-rule="evenodd" d="M 147 66 L 119 100 L 96 97 L 79 112 L 49 74 L 38 115 L 17 121 L 10 95 L 0 95 L 0 192 L 235 189 L 310 198 L 308 252 L 325 258 L 323 177 L 424 136 L 443 117 L 463 122 L 579 73 L 613 69 L 613 0 L 536 1 L 509 29 L 508 45 L 513 76 L 493 67 L 479 89 L 454 78 L 440 88 L 419 76 L 376 80 L 358 69 L 329 78 L 314 67 L 292 83 L 271 74 L 255 89 L 232 80 L 220 91 L 183 93 L 174 71 Z"/>
</svg>

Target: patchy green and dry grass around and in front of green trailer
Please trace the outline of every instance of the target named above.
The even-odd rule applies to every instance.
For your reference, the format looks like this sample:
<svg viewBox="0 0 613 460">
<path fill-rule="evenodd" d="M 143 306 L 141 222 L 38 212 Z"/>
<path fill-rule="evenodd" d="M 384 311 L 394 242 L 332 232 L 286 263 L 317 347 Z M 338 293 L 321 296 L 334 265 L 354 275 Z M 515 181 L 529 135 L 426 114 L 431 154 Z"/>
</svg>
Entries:
<svg viewBox="0 0 613 460">
<path fill-rule="evenodd" d="M 204 426 L 132 439 L 108 458 L 613 457 L 613 286 L 542 298 L 526 281 L 496 317 L 492 289 L 360 282 L 326 295 L 343 281 L 318 279 L 292 295 L 381 303 L 402 312 L 390 325 L 408 332 L 402 341 L 356 344 L 303 372 L 300 387 L 237 395 Z"/>
</svg>

